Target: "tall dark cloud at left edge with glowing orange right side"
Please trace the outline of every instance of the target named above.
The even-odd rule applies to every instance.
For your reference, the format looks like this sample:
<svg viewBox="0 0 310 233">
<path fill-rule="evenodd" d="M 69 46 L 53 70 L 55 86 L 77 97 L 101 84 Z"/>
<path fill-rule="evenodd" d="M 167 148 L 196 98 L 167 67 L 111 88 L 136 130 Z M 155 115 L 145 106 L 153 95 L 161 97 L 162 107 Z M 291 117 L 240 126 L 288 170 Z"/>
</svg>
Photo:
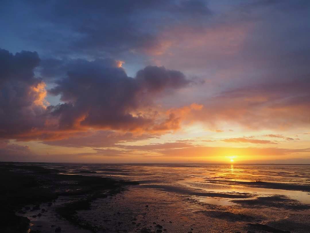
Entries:
<svg viewBox="0 0 310 233">
<path fill-rule="evenodd" d="M 0 49 L 0 135 L 22 134 L 44 125 L 44 83 L 33 74 L 36 52 Z"/>
</svg>

